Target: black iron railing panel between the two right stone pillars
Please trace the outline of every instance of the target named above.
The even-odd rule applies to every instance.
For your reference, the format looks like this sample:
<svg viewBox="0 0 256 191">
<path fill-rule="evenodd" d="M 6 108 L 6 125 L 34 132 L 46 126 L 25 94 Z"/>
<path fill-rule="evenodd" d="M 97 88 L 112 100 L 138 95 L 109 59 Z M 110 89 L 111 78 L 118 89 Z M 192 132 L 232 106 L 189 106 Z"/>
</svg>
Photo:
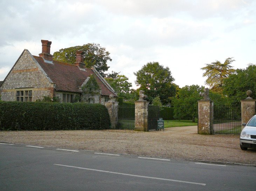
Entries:
<svg viewBox="0 0 256 191">
<path fill-rule="evenodd" d="M 213 109 L 214 133 L 241 133 L 241 107 L 214 105 Z"/>
</svg>

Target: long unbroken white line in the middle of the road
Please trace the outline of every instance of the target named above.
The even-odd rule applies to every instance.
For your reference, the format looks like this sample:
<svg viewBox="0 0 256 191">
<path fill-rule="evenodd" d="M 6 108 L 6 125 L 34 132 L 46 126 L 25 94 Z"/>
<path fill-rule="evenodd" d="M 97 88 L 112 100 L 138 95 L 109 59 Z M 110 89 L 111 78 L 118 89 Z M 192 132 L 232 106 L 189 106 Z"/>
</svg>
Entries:
<svg viewBox="0 0 256 191">
<path fill-rule="evenodd" d="M 58 165 L 58 164 L 54 164 L 54 165 Z M 116 172 L 105 171 L 105 170 L 97 170 L 97 169 L 91 169 L 91 168 L 82 168 L 82 167 L 74 167 L 74 166 L 67 166 L 67 165 L 58 165 L 58 166 L 79 168 L 79 169 L 84 169 L 84 170 L 98 171 L 98 172 L 102 172 L 102 173 L 119 174 L 119 175 L 133 176 L 133 177 L 140 177 L 140 178 L 150 178 L 150 179 L 157 179 L 157 180 L 163 180 L 163 181 L 181 182 L 181 183 L 188 183 L 188 184 L 198 184 L 198 185 L 202 185 L 202 186 L 206 185 L 206 184 L 197 183 L 197 182 L 187 182 L 187 181 L 179 181 L 179 180 L 166 179 L 166 178 L 157 178 L 157 177 L 140 176 L 140 175 L 134 175 L 134 174 L 116 173 Z"/>
</svg>

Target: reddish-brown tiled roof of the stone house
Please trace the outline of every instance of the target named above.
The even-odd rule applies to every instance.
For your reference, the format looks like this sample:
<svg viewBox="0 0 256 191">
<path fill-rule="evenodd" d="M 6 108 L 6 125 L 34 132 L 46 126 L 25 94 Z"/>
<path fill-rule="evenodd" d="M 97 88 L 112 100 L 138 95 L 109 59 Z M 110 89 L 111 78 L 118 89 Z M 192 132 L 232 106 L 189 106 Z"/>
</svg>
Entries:
<svg viewBox="0 0 256 191">
<path fill-rule="evenodd" d="M 46 72 L 51 81 L 56 84 L 56 91 L 80 92 L 78 87 L 83 84 L 85 79 L 91 74 L 95 75 L 94 71 L 89 68 L 85 68 L 86 71 L 83 71 L 80 70 L 78 66 L 72 64 L 58 61 L 53 61 L 53 64 L 51 64 L 44 62 L 43 58 L 39 56 L 34 56 L 34 58 Z M 95 77 L 102 95 L 113 94 L 114 96 L 117 96 L 102 83 L 98 76 L 95 75 Z"/>
</svg>

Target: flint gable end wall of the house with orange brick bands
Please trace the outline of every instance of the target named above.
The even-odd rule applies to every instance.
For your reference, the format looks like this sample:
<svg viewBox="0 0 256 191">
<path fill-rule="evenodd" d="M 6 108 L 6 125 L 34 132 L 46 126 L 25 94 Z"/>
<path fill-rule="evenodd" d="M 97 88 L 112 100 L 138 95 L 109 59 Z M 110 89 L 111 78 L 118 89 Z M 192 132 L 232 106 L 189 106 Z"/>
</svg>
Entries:
<svg viewBox="0 0 256 191">
<path fill-rule="evenodd" d="M 1 85 L 1 100 L 15 101 L 16 89 L 33 90 L 33 101 L 43 99 L 43 96 L 53 97 L 54 94 L 54 84 L 51 84 L 37 67 L 36 61 L 27 50 Z"/>
</svg>

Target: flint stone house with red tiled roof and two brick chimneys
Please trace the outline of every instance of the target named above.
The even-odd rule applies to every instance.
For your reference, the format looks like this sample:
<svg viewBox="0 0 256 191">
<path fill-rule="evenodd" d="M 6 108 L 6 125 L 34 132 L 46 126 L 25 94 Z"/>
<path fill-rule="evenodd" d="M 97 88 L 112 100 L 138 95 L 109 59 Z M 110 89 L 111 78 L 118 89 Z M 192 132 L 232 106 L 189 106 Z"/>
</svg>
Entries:
<svg viewBox="0 0 256 191">
<path fill-rule="evenodd" d="M 104 104 L 110 94 L 117 97 L 115 90 L 95 68 L 85 68 L 82 51 L 76 52 L 74 64 L 58 62 L 50 54 L 51 41 L 41 42 L 39 56 L 33 56 L 27 49 L 21 53 L 0 84 L 1 100 L 27 102 L 50 97 L 60 102 L 79 100 Z M 98 90 L 84 91 L 90 79 L 97 82 Z"/>
</svg>

